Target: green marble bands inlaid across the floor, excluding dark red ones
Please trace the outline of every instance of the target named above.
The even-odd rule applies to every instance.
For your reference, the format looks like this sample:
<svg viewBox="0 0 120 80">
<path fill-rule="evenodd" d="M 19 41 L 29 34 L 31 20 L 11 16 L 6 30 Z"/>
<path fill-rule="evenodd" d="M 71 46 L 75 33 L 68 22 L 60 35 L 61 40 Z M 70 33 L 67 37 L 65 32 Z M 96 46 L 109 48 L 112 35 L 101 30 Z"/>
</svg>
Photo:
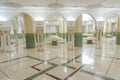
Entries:
<svg viewBox="0 0 120 80">
<path fill-rule="evenodd" d="M 80 56 L 81 56 L 81 55 L 78 55 L 78 56 L 74 57 L 74 59 L 78 59 Z M 32 56 L 24 56 L 24 57 L 20 57 L 20 58 L 15 58 L 15 59 L 3 61 L 3 62 L 0 62 L 0 64 L 1 64 L 1 63 L 10 62 L 10 61 L 14 61 L 14 60 L 19 60 L 19 59 L 26 58 L 26 57 L 31 58 L 31 59 L 34 59 L 34 60 L 37 60 L 37 61 L 42 61 L 42 62 L 44 62 L 44 60 L 41 60 L 41 59 L 38 59 L 38 58 L 35 58 L 35 57 L 32 57 Z M 72 62 L 72 61 L 73 61 L 73 59 L 69 60 L 67 63 L 64 63 L 64 64 L 62 64 L 62 65 L 64 65 L 64 66 L 66 65 L 66 67 L 71 68 L 71 69 L 76 69 L 76 68 L 74 68 L 74 67 L 72 67 L 72 66 L 68 66 L 68 65 L 67 65 L 67 64 L 69 64 L 69 63 Z M 35 79 L 36 77 L 38 77 L 38 76 L 44 74 L 45 72 L 47 72 L 47 71 L 49 71 L 49 70 L 51 70 L 51 69 L 53 69 L 53 68 L 55 68 L 55 67 L 58 66 L 57 64 L 54 64 L 54 63 L 51 63 L 51 62 L 48 62 L 48 64 L 50 64 L 50 65 L 52 65 L 52 66 L 49 67 L 49 68 L 47 68 L 47 69 L 45 69 L 45 70 L 39 71 L 38 73 L 36 73 L 36 74 L 34 74 L 34 75 L 32 75 L 32 76 L 24 79 L 24 80 L 33 80 L 33 79 Z M 93 73 L 93 72 L 89 72 L 89 71 L 87 71 L 87 70 L 80 70 L 80 72 L 83 72 L 83 73 L 86 73 L 86 74 L 89 74 L 89 75 L 92 75 L 92 76 L 96 76 L 96 77 L 98 77 L 98 78 L 100 78 L 100 79 L 103 79 L 103 80 L 115 80 L 115 79 L 112 79 L 112 78 L 109 78 L 109 77 L 105 77 L 105 76 L 100 75 L 100 74 L 96 74 L 96 73 Z"/>
</svg>

